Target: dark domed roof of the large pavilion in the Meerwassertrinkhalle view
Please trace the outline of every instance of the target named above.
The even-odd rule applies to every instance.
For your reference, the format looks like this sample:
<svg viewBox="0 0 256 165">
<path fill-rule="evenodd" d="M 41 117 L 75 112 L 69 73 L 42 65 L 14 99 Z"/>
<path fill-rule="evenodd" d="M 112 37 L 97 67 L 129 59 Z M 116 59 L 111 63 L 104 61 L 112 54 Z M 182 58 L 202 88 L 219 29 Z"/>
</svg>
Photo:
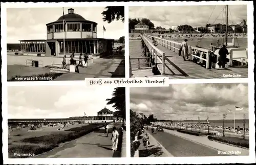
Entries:
<svg viewBox="0 0 256 165">
<path fill-rule="evenodd" d="M 84 19 L 81 15 L 74 13 L 74 9 L 68 9 L 69 13 L 60 16 L 56 21 L 47 23 L 46 25 L 50 25 L 51 23 L 60 23 L 63 22 L 63 19 L 66 20 L 66 22 L 84 22 L 84 23 L 93 23 L 94 25 L 97 25 L 98 23 Z"/>
</svg>

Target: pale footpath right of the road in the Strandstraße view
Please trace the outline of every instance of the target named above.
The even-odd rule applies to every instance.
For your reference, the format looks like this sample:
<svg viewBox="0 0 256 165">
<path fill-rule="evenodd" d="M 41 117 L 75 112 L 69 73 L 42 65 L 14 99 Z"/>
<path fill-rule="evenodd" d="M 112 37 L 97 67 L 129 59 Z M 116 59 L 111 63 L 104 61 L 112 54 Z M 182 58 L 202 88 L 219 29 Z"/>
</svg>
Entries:
<svg viewBox="0 0 256 165">
<path fill-rule="evenodd" d="M 195 135 L 181 133 L 181 132 L 169 130 L 169 129 L 164 129 L 164 131 L 169 134 L 179 136 L 181 138 L 198 143 L 200 145 L 204 145 L 209 148 L 216 149 L 218 151 L 241 151 L 241 154 L 239 156 L 249 155 L 249 149 L 243 149 L 240 147 L 234 147 L 234 146 L 229 146 L 229 145 L 221 144 L 218 142 L 214 142 L 214 141 L 209 140 L 207 138 L 207 136 L 195 136 Z"/>
</svg>

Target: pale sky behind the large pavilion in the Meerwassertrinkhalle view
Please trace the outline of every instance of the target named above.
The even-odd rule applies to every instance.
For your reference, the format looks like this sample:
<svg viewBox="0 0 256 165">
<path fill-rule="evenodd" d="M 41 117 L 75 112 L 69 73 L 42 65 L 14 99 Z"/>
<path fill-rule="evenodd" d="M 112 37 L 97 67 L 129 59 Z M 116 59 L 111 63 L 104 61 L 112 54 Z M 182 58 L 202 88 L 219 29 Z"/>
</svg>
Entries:
<svg viewBox="0 0 256 165">
<path fill-rule="evenodd" d="M 64 13 L 68 14 L 68 9 Z M 97 37 L 103 38 L 103 26 L 106 31 L 104 38 L 119 39 L 124 36 L 124 23 L 112 21 L 104 22 L 102 12 L 104 7 L 73 8 L 74 13 L 81 15 L 84 19 L 97 22 Z M 62 16 L 60 8 L 9 8 L 7 9 L 7 43 L 19 43 L 19 40 L 46 39 L 46 24 L 56 21 Z"/>
</svg>

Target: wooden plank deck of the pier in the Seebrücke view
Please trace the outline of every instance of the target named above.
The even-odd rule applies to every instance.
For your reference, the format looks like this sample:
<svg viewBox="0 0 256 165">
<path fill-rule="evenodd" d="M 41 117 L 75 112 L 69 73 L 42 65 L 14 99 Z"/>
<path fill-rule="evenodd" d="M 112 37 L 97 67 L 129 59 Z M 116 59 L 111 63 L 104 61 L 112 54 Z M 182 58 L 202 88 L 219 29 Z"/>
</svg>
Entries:
<svg viewBox="0 0 256 165">
<path fill-rule="evenodd" d="M 147 38 L 151 43 L 152 39 Z M 223 78 L 223 74 L 239 74 L 240 78 L 248 77 L 248 67 L 246 66 L 233 66 L 228 68 L 216 68 L 216 69 L 206 69 L 205 67 L 196 64 L 192 61 L 184 61 L 181 56 L 169 50 L 164 46 L 158 44 L 156 46 L 158 49 L 165 53 L 165 75 L 170 79 L 208 79 L 208 78 Z M 159 56 L 161 59 L 161 56 Z M 145 76 L 148 76 L 148 70 L 145 70 Z M 139 72 L 139 73 L 137 73 Z M 133 71 L 134 75 L 143 75 L 141 70 Z M 144 77 L 145 77 L 144 76 Z"/>
</svg>

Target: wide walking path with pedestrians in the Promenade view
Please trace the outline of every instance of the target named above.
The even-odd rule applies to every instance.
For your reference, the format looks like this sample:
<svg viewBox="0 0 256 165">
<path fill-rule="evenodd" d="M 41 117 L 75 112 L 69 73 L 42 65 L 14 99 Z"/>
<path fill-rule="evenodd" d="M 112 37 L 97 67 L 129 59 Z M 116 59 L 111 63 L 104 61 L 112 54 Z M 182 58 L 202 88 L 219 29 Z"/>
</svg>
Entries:
<svg viewBox="0 0 256 165">
<path fill-rule="evenodd" d="M 118 151 L 112 151 L 112 128 L 121 128 L 122 124 L 116 122 L 109 125 L 109 137 L 104 134 L 104 127 L 80 138 L 64 143 L 59 147 L 35 156 L 35 158 L 86 158 L 86 157 L 120 157 Z M 118 131 L 120 134 L 120 131 Z M 119 145 L 119 144 L 118 144 Z"/>
</svg>

